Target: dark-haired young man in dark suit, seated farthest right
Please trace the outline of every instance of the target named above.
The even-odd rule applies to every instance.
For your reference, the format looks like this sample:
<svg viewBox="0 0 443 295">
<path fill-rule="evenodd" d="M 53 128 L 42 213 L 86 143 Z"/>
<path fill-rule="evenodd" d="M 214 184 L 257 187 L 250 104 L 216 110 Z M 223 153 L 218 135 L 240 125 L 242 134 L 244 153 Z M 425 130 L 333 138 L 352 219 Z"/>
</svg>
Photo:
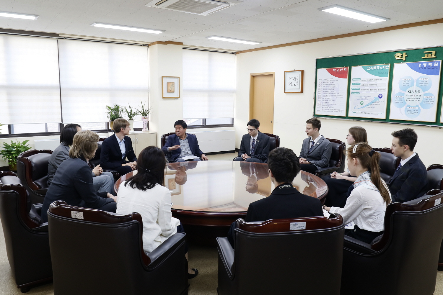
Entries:
<svg viewBox="0 0 443 295">
<path fill-rule="evenodd" d="M 414 152 L 418 136 L 413 129 L 394 131 L 391 135 L 392 153 L 401 161 L 389 182 L 389 191 L 392 202 L 404 203 L 426 193 L 426 166 Z"/>
</svg>

